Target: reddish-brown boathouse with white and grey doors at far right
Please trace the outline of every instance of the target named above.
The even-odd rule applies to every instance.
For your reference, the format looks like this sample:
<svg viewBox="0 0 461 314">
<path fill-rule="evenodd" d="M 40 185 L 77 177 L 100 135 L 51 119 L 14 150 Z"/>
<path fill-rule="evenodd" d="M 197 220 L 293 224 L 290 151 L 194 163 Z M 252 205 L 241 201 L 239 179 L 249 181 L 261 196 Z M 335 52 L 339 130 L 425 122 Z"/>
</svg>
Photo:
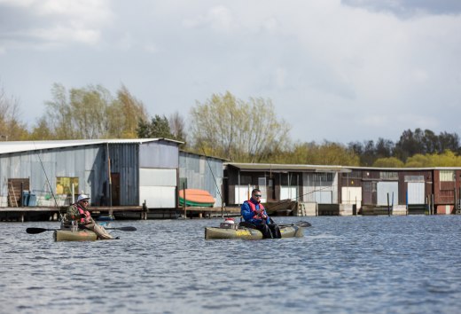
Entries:
<svg viewBox="0 0 461 314">
<path fill-rule="evenodd" d="M 455 214 L 461 209 L 461 168 L 361 168 L 341 174 L 340 199 L 359 214 Z"/>
</svg>

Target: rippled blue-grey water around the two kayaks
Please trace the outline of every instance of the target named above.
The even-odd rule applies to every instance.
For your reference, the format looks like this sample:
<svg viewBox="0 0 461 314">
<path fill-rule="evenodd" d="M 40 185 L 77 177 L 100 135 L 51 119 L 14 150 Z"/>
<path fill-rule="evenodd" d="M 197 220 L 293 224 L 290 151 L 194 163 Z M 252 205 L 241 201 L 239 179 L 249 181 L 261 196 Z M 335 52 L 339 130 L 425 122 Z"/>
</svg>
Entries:
<svg viewBox="0 0 461 314">
<path fill-rule="evenodd" d="M 2 313 L 455 313 L 461 216 L 278 217 L 301 239 L 205 240 L 219 220 L 124 221 L 54 242 L 0 223 Z M 85 296 L 86 295 L 86 296 Z"/>
</svg>

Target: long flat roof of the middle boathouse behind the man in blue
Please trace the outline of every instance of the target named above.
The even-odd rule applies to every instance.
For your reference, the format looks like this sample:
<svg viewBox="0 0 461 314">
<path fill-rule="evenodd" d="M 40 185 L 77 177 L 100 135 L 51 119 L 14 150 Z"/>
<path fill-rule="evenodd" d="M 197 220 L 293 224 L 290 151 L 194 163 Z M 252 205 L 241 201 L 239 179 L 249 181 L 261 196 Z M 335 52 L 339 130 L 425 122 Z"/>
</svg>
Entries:
<svg viewBox="0 0 461 314">
<path fill-rule="evenodd" d="M 224 162 L 225 167 L 231 166 L 241 171 L 300 171 L 300 172 L 351 172 L 343 166 L 320 166 L 320 165 L 290 165 L 281 163 L 238 163 Z"/>
</svg>

